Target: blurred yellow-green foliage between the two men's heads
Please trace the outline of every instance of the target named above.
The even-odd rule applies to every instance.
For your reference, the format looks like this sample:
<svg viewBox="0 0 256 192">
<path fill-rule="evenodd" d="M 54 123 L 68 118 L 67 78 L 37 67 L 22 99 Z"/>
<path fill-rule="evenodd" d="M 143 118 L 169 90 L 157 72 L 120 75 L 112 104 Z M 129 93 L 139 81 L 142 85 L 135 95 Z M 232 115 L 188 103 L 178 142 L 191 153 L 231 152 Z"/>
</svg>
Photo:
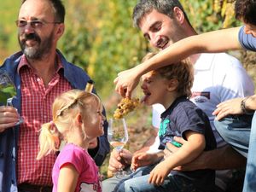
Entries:
<svg viewBox="0 0 256 192">
<path fill-rule="evenodd" d="M 103 95 L 113 90 L 113 79 L 117 73 L 133 67 L 138 62 L 137 58 L 144 55 L 147 44 L 132 26 L 131 14 L 135 3 L 119 0 L 70 3 L 77 6 L 68 12 L 69 19 L 73 18 L 73 25 L 67 26 L 61 49 L 70 61 L 90 74 L 96 81 L 96 88 L 104 88 Z"/>
</svg>

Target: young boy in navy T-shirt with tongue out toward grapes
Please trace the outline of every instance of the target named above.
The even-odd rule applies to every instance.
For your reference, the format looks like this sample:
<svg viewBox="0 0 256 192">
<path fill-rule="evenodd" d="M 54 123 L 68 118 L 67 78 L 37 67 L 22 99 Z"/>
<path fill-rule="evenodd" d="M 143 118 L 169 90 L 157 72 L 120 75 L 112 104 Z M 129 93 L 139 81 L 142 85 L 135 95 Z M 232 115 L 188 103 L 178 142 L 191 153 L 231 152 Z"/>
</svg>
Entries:
<svg viewBox="0 0 256 192">
<path fill-rule="evenodd" d="M 153 54 L 147 55 L 151 57 Z M 204 150 L 216 148 L 216 141 L 207 114 L 190 102 L 191 86 L 194 80 L 193 67 L 189 61 L 180 61 L 167 67 L 161 67 L 143 75 L 142 89 L 147 105 L 160 103 L 166 111 L 161 114 L 160 149 L 174 136 L 183 137 L 188 143 L 176 152 L 160 161 L 149 175 L 142 176 L 139 183 L 133 179 L 125 181 L 118 191 L 215 191 L 215 172 L 213 170 L 196 170 L 194 172 L 176 172 L 177 166 L 189 163 Z M 143 166 L 142 156 L 157 162 L 156 154 L 136 154 L 132 167 Z M 147 183 L 148 180 L 148 183 Z M 193 190 L 194 189 L 194 190 Z"/>
</svg>

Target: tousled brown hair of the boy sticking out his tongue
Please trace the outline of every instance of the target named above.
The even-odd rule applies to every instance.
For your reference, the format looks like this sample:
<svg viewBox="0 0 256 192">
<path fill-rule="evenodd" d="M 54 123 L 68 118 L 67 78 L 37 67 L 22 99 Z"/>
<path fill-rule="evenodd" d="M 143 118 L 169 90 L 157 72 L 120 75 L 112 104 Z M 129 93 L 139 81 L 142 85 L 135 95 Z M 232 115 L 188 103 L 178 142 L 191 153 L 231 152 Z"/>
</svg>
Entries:
<svg viewBox="0 0 256 192">
<path fill-rule="evenodd" d="M 143 62 L 152 58 L 157 53 L 148 53 L 143 57 Z M 194 67 L 189 59 L 170 63 L 169 66 L 160 67 L 153 70 L 152 73 L 159 73 L 162 78 L 171 80 L 177 79 L 177 94 L 179 96 L 190 97 L 192 95 L 191 88 L 194 82 Z"/>
</svg>

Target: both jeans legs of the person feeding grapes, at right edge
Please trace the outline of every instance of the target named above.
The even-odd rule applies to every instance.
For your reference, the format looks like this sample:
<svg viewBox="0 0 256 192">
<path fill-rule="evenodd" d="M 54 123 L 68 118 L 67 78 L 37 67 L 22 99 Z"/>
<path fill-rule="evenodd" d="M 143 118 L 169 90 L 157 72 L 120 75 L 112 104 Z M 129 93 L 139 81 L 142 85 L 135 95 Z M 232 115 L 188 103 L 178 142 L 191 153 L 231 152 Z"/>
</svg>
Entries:
<svg viewBox="0 0 256 192">
<path fill-rule="evenodd" d="M 224 118 L 214 125 L 225 142 L 247 157 L 243 192 L 256 192 L 256 113 Z"/>
</svg>

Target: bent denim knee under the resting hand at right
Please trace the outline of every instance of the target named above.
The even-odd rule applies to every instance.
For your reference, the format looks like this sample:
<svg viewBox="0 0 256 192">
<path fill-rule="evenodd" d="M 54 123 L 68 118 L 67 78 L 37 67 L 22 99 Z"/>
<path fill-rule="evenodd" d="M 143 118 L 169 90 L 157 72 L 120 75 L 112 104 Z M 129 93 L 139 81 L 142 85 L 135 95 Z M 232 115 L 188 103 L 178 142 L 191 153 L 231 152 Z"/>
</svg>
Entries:
<svg viewBox="0 0 256 192">
<path fill-rule="evenodd" d="M 219 121 L 214 121 L 216 130 L 224 141 L 246 158 L 252 118 L 252 115 L 230 115 Z"/>
</svg>

